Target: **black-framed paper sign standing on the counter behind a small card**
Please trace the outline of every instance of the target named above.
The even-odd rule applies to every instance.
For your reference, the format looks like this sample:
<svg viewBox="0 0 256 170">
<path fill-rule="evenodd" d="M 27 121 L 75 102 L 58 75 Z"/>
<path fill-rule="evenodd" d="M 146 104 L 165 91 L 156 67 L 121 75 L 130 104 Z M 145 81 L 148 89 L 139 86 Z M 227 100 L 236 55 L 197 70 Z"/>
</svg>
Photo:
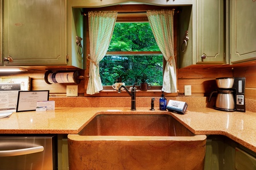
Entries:
<svg viewBox="0 0 256 170">
<path fill-rule="evenodd" d="M 38 101 L 48 101 L 49 90 L 19 91 L 16 112 L 35 111 Z"/>
</svg>

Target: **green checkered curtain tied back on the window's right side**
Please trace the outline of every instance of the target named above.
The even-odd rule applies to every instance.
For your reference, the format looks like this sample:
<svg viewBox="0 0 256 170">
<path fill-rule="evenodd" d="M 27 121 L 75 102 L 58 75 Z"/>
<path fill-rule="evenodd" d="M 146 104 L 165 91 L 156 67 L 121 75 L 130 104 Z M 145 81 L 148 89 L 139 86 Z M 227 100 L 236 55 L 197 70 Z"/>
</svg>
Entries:
<svg viewBox="0 0 256 170">
<path fill-rule="evenodd" d="M 163 91 L 177 92 L 174 57 L 174 10 L 147 11 L 156 43 L 167 61 L 163 76 Z"/>
</svg>

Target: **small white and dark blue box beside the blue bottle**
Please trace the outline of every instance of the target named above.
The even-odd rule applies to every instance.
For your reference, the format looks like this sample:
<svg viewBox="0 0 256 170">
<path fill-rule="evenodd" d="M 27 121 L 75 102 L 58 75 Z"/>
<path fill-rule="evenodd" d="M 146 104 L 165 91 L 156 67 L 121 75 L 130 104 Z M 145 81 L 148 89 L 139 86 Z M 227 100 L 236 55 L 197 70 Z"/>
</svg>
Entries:
<svg viewBox="0 0 256 170">
<path fill-rule="evenodd" d="M 169 100 L 166 108 L 170 112 L 185 114 L 187 107 L 188 104 L 184 101 Z"/>
</svg>

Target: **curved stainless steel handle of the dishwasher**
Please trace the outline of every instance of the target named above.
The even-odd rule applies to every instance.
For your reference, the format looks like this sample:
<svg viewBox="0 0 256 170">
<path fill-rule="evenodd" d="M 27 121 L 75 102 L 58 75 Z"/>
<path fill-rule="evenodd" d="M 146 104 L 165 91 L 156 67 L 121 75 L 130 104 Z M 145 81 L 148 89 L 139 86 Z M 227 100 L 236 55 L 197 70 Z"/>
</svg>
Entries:
<svg viewBox="0 0 256 170">
<path fill-rule="evenodd" d="M 44 150 L 43 146 L 22 148 L 19 150 L 6 150 L 6 151 L 0 151 L 0 157 L 34 154 L 37 152 L 42 152 L 43 150 Z"/>
</svg>

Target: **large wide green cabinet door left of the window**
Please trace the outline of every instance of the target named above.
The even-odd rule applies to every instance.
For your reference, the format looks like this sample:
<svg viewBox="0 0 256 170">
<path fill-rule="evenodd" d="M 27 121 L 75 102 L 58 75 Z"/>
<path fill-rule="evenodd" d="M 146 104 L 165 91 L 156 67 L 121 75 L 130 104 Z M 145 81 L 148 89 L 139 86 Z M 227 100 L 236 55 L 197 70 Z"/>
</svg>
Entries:
<svg viewBox="0 0 256 170">
<path fill-rule="evenodd" d="M 3 1 L 5 65 L 67 65 L 65 0 Z"/>
</svg>

